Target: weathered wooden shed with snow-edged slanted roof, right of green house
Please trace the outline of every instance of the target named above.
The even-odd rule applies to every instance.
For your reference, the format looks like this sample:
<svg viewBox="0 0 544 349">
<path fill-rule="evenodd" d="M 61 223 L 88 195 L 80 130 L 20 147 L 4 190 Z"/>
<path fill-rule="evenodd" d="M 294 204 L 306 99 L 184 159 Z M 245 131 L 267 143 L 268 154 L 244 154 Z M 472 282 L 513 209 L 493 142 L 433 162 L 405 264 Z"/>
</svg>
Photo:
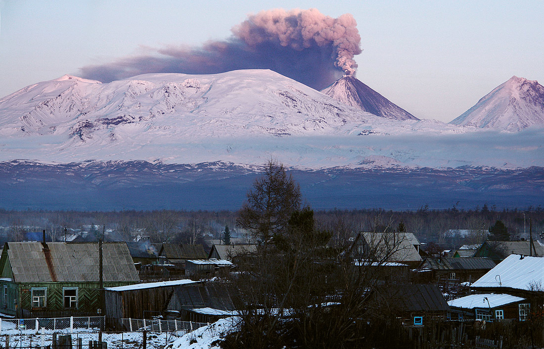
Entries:
<svg viewBox="0 0 544 349">
<path fill-rule="evenodd" d="M 108 287 L 104 290 L 106 324 L 123 329 L 121 319 L 151 319 L 162 315 L 174 287 L 197 284 L 199 281 L 186 279 Z"/>
</svg>

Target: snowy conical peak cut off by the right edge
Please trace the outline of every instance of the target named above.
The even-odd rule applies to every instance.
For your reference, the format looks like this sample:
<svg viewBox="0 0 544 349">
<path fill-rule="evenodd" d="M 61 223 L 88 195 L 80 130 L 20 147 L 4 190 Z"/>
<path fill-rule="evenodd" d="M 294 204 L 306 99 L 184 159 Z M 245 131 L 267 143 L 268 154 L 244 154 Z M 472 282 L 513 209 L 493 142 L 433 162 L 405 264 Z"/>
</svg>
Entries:
<svg viewBox="0 0 544 349">
<path fill-rule="evenodd" d="M 537 81 L 512 76 L 451 124 L 506 131 L 544 126 L 544 87 Z"/>
</svg>

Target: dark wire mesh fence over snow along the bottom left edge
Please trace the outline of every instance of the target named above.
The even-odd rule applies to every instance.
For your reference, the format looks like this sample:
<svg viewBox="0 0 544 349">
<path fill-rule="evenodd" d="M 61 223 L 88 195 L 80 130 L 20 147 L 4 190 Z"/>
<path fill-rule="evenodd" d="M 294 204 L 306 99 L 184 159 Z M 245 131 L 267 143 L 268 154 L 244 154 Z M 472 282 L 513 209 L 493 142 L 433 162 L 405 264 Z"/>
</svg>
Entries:
<svg viewBox="0 0 544 349">
<path fill-rule="evenodd" d="M 11 334 L 0 335 L 0 348 L 30 349 L 37 347 L 53 346 L 53 338 L 56 335 L 70 335 L 72 347 L 77 349 L 90 349 L 89 342 L 106 342 L 108 349 L 164 349 L 166 346 L 186 334 L 188 331 L 179 332 L 76 332 L 76 333 L 44 333 L 44 334 Z M 145 340 L 144 340 L 145 338 Z M 59 336 L 57 336 L 57 344 Z M 63 346 L 64 347 L 64 346 Z"/>
</svg>

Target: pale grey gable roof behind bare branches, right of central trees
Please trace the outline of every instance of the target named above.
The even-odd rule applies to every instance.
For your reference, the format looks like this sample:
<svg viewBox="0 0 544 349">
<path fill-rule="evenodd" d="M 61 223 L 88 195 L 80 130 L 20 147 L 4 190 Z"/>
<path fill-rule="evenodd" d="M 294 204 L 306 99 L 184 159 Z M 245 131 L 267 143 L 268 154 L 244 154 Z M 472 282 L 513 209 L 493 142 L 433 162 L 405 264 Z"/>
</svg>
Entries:
<svg viewBox="0 0 544 349">
<path fill-rule="evenodd" d="M 413 234 L 411 235 L 413 236 Z M 413 240 L 407 234 L 398 232 L 361 232 L 355 238 L 354 246 L 360 242 L 361 237 L 378 259 L 397 262 L 419 262 L 422 260 L 412 244 Z M 390 255 L 388 256 L 388 254 Z"/>
</svg>

